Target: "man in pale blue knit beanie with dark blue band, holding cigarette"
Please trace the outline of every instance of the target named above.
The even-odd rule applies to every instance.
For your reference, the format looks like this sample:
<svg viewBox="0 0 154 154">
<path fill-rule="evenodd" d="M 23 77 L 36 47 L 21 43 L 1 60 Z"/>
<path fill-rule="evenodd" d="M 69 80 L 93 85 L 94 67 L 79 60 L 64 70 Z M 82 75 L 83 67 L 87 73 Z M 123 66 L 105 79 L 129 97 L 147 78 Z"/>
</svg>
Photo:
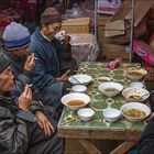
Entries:
<svg viewBox="0 0 154 154">
<path fill-rule="evenodd" d="M 2 52 L 11 59 L 14 69 L 15 94 L 20 95 L 25 84 L 31 82 L 31 70 L 34 67 L 34 54 L 30 55 L 30 32 L 20 23 L 11 22 L 3 32 Z M 22 86 L 21 86 L 22 84 Z M 18 89 L 20 89 L 18 91 Z"/>
</svg>

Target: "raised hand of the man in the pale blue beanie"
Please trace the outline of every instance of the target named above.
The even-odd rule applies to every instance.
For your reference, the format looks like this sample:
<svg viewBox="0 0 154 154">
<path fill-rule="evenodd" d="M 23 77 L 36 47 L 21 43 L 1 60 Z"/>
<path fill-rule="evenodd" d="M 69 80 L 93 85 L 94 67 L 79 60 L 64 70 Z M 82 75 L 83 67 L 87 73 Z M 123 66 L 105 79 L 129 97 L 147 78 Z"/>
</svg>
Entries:
<svg viewBox="0 0 154 154">
<path fill-rule="evenodd" d="M 34 53 L 28 56 L 26 62 L 24 64 L 24 69 L 31 72 L 35 65 L 35 55 Z"/>
</svg>

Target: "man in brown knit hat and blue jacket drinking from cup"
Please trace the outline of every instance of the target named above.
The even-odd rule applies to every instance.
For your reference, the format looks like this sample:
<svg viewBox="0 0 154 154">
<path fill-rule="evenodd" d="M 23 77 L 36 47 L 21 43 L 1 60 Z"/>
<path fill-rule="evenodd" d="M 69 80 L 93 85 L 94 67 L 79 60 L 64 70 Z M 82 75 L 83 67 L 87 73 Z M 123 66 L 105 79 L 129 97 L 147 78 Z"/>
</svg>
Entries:
<svg viewBox="0 0 154 154">
<path fill-rule="evenodd" d="M 30 48 L 35 54 L 37 61 L 33 69 L 33 82 L 42 91 L 44 100 L 51 102 L 51 94 L 59 97 L 64 95 L 68 76 L 75 70 L 77 65 L 72 61 L 70 37 L 65 36 L 62 43 L 55 38 L 61 31 L 62 15 L 54 8 L 47 8 L 41 16 L 41 26 L 31 36 Z M 65 57 L 66 56 L 66 57 Z M 70 65 L 65 69 L 66 74 L 61 74 L 64 69 L 64 61 L 70 61 Z M 58 108 L 55 102 L 52 106 Z"/>
</svg>

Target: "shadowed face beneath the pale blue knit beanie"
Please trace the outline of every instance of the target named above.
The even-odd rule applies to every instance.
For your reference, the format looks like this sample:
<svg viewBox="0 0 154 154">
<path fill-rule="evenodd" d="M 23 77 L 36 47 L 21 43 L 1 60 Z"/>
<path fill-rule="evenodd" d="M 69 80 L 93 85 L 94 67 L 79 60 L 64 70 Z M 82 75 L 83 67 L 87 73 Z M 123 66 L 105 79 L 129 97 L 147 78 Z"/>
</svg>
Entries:
<svg viewBox="0 0 154 154">
<path fill-rule="evenodd" d="M 14 57 L 26 57 L 30 54 L 30 47 L 29 45 L 20 48 L 20 50 L 15 50 L 15 51 L 9 51 Z"/>
</svg>

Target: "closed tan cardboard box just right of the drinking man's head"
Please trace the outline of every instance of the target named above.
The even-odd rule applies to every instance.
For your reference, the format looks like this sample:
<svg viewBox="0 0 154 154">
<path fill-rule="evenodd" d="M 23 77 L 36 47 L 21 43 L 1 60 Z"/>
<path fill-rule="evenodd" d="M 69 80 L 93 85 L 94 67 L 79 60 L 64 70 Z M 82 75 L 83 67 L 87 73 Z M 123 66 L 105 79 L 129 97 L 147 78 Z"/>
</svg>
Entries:
<svg viewBox="0 0 154 154">
<path fill-rule="evenodd" d="M 64 20 L 62 30 L 66 31 L 66 33 L 89 33 L 90 18 Z"/>
</svg>

